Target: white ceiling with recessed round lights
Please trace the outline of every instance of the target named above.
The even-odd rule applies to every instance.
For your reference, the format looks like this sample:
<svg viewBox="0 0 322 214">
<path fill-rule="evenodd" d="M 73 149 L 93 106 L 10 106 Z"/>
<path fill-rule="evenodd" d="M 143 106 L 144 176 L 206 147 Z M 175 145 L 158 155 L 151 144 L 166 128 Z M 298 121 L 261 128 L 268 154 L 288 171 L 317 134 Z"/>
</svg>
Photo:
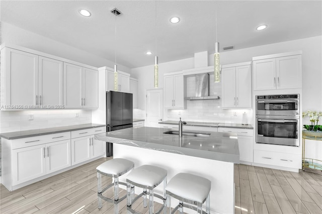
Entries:
<svg viewBox="0 0 322 214">
<path fill-rule="evenodd" d="M 322 35 L 322 1 L 1 1 L 1 21 L 129 68 Z M 155 7 L 156 5 L 156 7 Z M 122 12 L 115 17 L 110 11 Z M 87 9 L 91 17 L 78 11 Z M 169 19 L 179 16 L 181 22 Z M 156 18 L 156 21 L 155 21 Z M 256 31 L 267 24 L 268 28 Z M 116 40 L 115 40 L 116 26 Z M 156 36 L 155 36 L 156 35 Z M 152 51 L 148 56 L 146 51 Z"/>
</svg>

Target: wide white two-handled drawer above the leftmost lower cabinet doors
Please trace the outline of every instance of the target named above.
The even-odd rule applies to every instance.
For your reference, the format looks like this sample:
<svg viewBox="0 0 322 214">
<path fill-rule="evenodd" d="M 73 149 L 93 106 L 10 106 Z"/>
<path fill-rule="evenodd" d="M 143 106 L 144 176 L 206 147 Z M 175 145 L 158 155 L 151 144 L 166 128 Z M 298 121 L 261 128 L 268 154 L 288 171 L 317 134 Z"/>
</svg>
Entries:
<svg viewBox="0 0 322 214">
<path fill-rule="evenodd" d="M 51 135 L 41 135 L 30 138 L 20 138 L 12 140 L 12 149 L 19 149 L 28 146 L 36 146 L 49 142 L 62 141 L 70 139 L 70 132 L 61 132 Z"/>
</svg>

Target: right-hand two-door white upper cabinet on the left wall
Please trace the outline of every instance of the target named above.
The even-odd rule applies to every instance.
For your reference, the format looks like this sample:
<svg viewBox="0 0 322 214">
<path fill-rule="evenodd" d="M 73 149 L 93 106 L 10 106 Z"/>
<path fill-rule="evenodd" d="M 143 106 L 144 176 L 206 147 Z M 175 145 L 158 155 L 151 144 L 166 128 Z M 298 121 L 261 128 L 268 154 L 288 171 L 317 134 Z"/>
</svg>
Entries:
<svg viewBox="0 0 322 214">
<path fill-rule="evenodd" d="M 63 63 L 63 94 L 66 109 L 98 107 L 98 70 Z"/>
</svg>

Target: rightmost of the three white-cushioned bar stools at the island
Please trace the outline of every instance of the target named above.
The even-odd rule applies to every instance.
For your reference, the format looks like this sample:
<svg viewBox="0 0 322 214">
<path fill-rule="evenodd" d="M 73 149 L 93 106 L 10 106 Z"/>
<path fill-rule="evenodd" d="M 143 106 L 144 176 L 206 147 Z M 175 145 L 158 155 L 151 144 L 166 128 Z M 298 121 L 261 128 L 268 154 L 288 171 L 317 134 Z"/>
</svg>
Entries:
<svg viewBox="0 0 322 214">
<path fill-rule="evenodd" d="M 183 213 L 183 207 L 196 210 L 198 213 L 210 213 L 210 188 L 211 181 L 189 173 L 175 175 L 166 186 L 169 213 L 174 213 L 178 208 Z M 179 200 L 179 204 L 171 211 L 171 197 Z M 206 211 L 202 210 L 202 204 L 206 201 Z M 189 204 L 186 204 L 189 203 Z M 192 206 L 192 205 L 197 206 Z"/>
</svg>

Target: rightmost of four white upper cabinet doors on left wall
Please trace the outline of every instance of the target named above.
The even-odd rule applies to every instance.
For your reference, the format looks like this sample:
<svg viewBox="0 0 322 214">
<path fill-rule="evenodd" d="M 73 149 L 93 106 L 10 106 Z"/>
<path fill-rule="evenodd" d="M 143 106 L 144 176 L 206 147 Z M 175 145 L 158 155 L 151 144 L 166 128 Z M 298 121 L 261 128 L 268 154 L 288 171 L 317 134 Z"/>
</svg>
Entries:
<svg viewBox="0 0 322 214">
<path fill-rule="evenodd" d="M 99 71 L 83 68 L 83 108 L 99 106 Z"/>
</svg>

